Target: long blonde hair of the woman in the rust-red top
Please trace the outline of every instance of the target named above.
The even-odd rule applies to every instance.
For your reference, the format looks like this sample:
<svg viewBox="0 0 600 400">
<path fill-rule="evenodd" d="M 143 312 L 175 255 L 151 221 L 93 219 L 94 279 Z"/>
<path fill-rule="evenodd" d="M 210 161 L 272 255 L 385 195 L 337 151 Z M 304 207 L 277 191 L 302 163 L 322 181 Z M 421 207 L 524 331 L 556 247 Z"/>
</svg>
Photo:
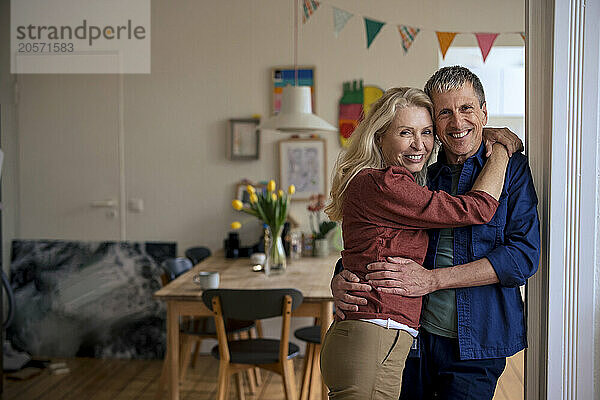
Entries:
<svg viewBox="0 0 600 400">
<path fill-rule="evenodd" d="M 396 111 L 409 106 L 426 108 L 433 119 L 433 104 L 425 92 L 420 89 L 400 87 L 386 90 L 383 96 L 371 106 L 365 119 L 356 127 L 350 137 L 348 149 L 340 152 L 333 168 L 330 203 L 325 207 L 325 213 L 332 221 L 342 219 L 344 193 L 352 178 L 365 168 L 386 167 L 377 143 L 392 123 Z M 424 186 L 427 181 L 427 165 L 413 175 L 416 181 Z"/>
</svg>

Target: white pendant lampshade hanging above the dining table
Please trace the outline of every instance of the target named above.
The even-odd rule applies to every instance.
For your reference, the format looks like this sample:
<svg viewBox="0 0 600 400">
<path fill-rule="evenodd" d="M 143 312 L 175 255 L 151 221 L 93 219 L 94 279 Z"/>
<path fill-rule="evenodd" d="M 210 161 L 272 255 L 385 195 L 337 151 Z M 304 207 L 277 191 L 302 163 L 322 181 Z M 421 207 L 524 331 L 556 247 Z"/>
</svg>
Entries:
<svg viewBox="0 0 600 400">
<path fill-rule="evenodd" d="M 335 126 L 312 113 L 309 86 L 284 87 L 279 114 L 266 120 L 259 129 L 276 129 L 284 132 L 337 131 Z"/>
</svg>

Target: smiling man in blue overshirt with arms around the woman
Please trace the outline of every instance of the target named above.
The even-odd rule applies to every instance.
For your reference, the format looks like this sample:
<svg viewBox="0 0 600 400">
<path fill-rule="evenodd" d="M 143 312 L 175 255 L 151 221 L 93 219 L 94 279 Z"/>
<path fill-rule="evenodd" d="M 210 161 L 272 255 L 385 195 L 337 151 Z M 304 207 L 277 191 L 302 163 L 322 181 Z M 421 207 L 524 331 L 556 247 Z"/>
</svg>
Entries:
<svg viewBox="0 0 600 400">
<path fill-rule="evenodd" d="M 454 66 L 438 70 L 425 92 L 442 142 L 428 186 L 464 194 L 486 160 L 483 87 L 467 68 Z M 336 313 L 343 318 L 344 310 L 366 304 L 357 293 L 365 290 L 425 296 L 400 399 L 492 399 L 506 357 L 527 346 L 519 286 L 539 262 L 537 196 L 526 157 L 512 155 L 500 205 L 488 224 L 430 230 L 429 236 L 424 267 L 401 258 L 373 263 L 368 285 L 349 271 L 336 274 L 331 282 Z"/>
</svg>

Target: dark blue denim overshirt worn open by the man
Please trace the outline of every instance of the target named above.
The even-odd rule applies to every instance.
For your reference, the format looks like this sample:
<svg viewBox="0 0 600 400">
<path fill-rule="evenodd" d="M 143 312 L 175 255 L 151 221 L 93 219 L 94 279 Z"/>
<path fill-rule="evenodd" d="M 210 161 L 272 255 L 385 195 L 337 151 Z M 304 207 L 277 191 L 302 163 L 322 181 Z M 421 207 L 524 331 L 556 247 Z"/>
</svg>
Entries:
<svg viewBox="0 0 600 400">
<path fill-rule="evenodd" d="M 450 192 L 452 175 L 443 151 L 429 167 L 428 186 Z M 486 161 L 485 146 L 466 160 L 458 194 L 469 191 Z M 429 231 L 424 267 L 433 268 L 439 229 Z M 526 321 L 519 290 L 538 268 L 540 229 L 537 196 L 527 158 L 513 154 L 500 205 L 486 225 L 454 229 L 454 264 L 486 257 L 499 283 L 456 289 L 461 359 L 509 357 L 527 347 Z"/>
</svg>

